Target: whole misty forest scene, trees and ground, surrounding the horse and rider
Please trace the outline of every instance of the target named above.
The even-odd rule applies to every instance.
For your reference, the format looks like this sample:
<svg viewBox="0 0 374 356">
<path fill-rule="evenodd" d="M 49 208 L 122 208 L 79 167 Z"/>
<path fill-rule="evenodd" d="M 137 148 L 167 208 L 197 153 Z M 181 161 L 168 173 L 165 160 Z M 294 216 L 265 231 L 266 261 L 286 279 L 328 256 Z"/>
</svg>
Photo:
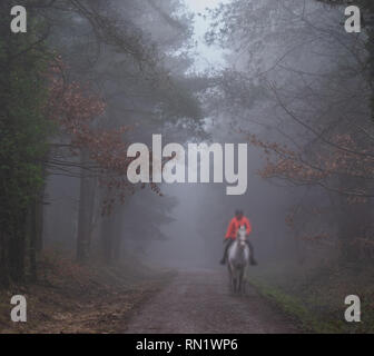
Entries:
<svg viewBox="0 0 374 356">
<path fill-rule="evenodd" d="M 374 2 L 355 4 L 361 32 L 344 0 L 1 0 L 0 333 L 373 333 Z M 247 144 L 245 194 L 129 181 L 135 142 L 155 175 L 154 135 Z M 219 264 L 237 209 L 243 296 Z"/>
</svg>

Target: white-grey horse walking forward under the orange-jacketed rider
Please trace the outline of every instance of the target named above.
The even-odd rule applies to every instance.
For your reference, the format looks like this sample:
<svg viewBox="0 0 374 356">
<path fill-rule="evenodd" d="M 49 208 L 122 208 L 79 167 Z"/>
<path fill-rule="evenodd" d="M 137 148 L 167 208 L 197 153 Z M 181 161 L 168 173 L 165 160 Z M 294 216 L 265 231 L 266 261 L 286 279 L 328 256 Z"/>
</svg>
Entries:
<svg viewBox="0 0 374 356">
<path fill-rule="evenodd" d="M 245 274 L 249 265 L 249 247 L 246 228 L 240 226 L 233 245 L 228 249 L 228 276 L 234 293 L 245 294 Z"/>
</svg>

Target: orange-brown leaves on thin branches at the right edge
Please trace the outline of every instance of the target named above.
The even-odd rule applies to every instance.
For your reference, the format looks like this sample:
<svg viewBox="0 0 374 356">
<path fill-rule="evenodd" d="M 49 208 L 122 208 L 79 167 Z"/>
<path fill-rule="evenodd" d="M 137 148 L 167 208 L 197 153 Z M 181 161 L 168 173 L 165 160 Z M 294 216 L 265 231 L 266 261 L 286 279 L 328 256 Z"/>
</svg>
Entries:
<svg viewBox="0 0 374 356">
<path fill-rule="evenodd" d="M 249 142 L 260 148 L 266 156 L 266 165 L 259 171 L 263 178 L 286 179 L 296 185 L 323 185 L 327 187 L 333 178 L 345 176 L 374 179 L 373 150 L 363 149 L 351 135 L 335 135 L 329 146 L 318 146 L 315 151 L 296 152 L 287 146 L 266 142 L 255 135 L 248 135 Z M 348 196 L 350 202 L 365 202 L 365 189 L 336 188 Z"/>
</svg>

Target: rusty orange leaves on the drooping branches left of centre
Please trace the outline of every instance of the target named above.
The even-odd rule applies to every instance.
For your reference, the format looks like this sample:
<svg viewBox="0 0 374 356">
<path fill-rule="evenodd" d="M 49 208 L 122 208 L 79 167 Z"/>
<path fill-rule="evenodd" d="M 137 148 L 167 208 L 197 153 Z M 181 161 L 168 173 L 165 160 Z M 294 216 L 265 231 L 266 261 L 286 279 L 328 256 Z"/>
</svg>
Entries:
<svg viewBox="0 0 374 356">
<path fill-rule="evenodd" d="M 100 127 L 98 120 L 106 111 L 106 103 L 99 95 L 92 93 L 89 86 L 79 82 L 67 82 L 61 58 L 50 66 L 47 79 L 49 81 L 49 101 L 46 112 L 58 123 L 70 138 L 70 150 L 77 156 L 81 149 L 89 151 L 92 161 L 91 171 L 99 176 L 99 184 L 108 191 L 116 190 L 117 198 L 125 200 L 125 190 L 135 192 L 135 187 L 127 180 L 127 169 L 136 159 L 127 157 L 129 144 L 124 141 L 124 134 L 130 127 L 108 130 Z M 90 165 L 91 166 L 91 165 Z M 150 188 L 160 195 L 156 185 Z M 104 214 L 110 214 L 115 199 L 107 199 Z"/>
</svg>

